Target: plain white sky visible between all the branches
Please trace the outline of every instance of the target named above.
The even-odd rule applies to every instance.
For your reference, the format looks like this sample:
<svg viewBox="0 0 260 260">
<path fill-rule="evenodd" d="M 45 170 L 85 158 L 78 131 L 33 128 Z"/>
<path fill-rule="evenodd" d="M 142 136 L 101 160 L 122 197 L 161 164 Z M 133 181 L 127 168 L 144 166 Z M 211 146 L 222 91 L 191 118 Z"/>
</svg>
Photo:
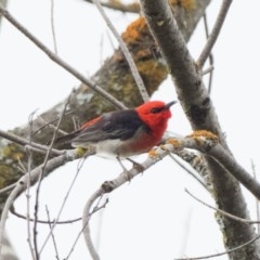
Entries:
<svg viewBox="0 0 260 260">
<path fill-rule="evenodd" d="M 209 8 L 209 26 L 219 11 L 221 1 Z M 259 169 L 259 46 L 260 24 L 258 0 L 233 1 L 231 11 L 213 49 L 216 72 L 212 100 L 227 143 L 235 157 L 248 170 L 250 159 Z M 249 3 L 248 2 L 248 3 Z M 98 11 L 91 4 L 76 0 L 55 0 L 55 32 L 58 54 L 79 72 L 91 76 L 113 52 L 107 29 Z M 50 1 L 10 1 L 9 10 L 18 21 L 46 44 L 52 48 Z M 112 13 L 112 21 L 119 31 L 134 18 L 120 12 Z M 66 98 L 78 80 L 54 64 L 6 21 L 2 21 L 0 35 L 0 119 L 1 129 L 8 130 L 26 123 L 37 109 L 41 114 Z M 205 44 L 204 31 L 197 30 L 190 43 L 196 58 Z M 115 46 L 116 41 L 114 40 Z M 176 100 L 171 81 L 167 81 L 153 99 Z M 180 105 L 172 107 L 173 117 L 169 130 L 185 135 L 188 123 Z M 140 161 L 145 156 L 140 158 Z M 77 162 L 62 167 L 48 178 L 41 188 L 41 219 L 56 212 L 75 177 Z M 88 197 L 103 183 L 120 173 L 120 166 L 102 158 L 89 158 L 76 180 L 62 214 L 63 220 L 82 214 Z M 103 211 L 100 255 L 105 260 L 117 259 L 173 259 L 181 256 L 204 256 L 222 251 L 221 234 L 213 212 L 192 199 L 187 188 L 196 196 L 213 205 L 211 197 L 188 174 L 167 158 L 109 195 L 109 204 Z M 253 198 L 245 193 L 251 207 Z M 34 190 L 30 199 L 34 209 Z M 15 204 L 17 211 L 26 213 L 26 199 L 22 195 Z M 255 217 L 255 216 L 252 216 Z M 96 221 L 95 221 L 96 220 Z M 100 218 L 93 217 L 93 233 Z M 26 221 L 10 216 L 8 231 L 21 259 L 29 258 L 26 242 Z M 61 259 L 65 258 L 81 227 L 77 224 L 58 225 L 55 238 Z M 39 225 L 39 245 L 48 227 Z M 184 243 L 185 240 L 185 243 Z M 81 237 L 70 259 L 90 259 Z M 42 259 L 55 259 L 49 242 Z M 226 259 L 221 257 L 219 259 Z"/>
</svg>

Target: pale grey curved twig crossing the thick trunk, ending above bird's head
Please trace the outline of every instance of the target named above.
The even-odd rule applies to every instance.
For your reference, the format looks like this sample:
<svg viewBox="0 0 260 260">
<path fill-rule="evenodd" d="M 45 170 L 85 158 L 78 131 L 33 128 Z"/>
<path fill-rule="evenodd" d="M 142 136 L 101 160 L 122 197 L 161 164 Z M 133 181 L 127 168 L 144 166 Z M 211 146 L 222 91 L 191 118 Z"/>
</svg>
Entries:
<svg viewBox="0 0 260 260">
<path fill-rule="evenodd" d="M 127 48 L 127 44 L 125 43 L 125 41 L 122 40 L 122 38 L 120 37 L 120 35 L 117 32 L 115 26 L 112 24 L 110 20 L 108 18 L 108 16 L 106 15 L 106 13 L 104 12 L 104 9 L 102 6 L 102 4 L 100 3 L 100 0 L 93 0 L 93 2 L 95 3 L 98 10 L 100 11 L 102 17 L 104 18 L 107 27 L 110 29 L 110 31 L 113 32 L 113 35 L 115 36 L 115 38 L 117 39 L 119 47 L 129 64 L 130 70 L 132 73 L 132 76 L 135 80 L 135 83 L 139 88 L 139 92 L 143 98 L 144 102 L 147 102 L 150 100 L 150 95 L 145 89 L 143 79 L 141 78 L 138 67 L 132 58 L 132 55 L 130 53 L 130 51 Z"/>
</svg>

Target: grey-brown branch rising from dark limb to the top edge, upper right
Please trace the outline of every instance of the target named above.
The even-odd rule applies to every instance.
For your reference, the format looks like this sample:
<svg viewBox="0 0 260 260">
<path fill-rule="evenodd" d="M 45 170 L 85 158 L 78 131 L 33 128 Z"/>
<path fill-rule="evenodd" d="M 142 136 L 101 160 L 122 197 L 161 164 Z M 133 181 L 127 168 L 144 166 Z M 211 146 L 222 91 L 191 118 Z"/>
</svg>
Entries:
<svg viewBox="0 0 260 260">
<path fill-rule="evenodd" d="M 222 28 L 222 25 L 224 23 L 225 16 L 227 14 L 227 11 L 230 9 L 230 5 L 232 3 L 232 0 L 223 0 L 222 5 L 220 8 L 220 12 L 218 14 L 218 17 L 216 20 L 214 26 L 212 28 L 211 34 L 208 37 L 207 43 L 203 49 L 203 52 L 200 53 L 196 64 L 203 68 L 205 62 L 207 61 L 208 56 L 210 55 L 210 52 L 214 46 L 214 42 L 217 41 L 220 30 Z"/>
</svg>

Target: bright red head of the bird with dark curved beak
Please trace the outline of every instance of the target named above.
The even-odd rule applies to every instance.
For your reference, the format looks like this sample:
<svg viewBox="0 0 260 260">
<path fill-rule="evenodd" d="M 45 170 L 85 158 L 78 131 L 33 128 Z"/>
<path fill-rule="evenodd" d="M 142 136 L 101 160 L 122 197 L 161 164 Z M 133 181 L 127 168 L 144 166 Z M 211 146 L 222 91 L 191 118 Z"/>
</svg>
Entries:
<svg viewBox="0 0 260 260">
<path fill-rule="evenodd" d="M 170 107 L 176 101 L 168 104 L 161 101 L 151 101 L 136 107 L 135 110 L 152 132 L 161 138 L 166 131 L 168 119 L 171 117 Z"/>
</svg>

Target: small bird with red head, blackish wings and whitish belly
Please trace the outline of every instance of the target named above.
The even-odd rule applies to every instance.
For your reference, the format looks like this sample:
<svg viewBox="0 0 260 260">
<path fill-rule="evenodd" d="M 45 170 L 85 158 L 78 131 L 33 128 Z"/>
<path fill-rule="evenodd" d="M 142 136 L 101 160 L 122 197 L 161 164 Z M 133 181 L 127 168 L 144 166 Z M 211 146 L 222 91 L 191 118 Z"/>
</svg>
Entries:
<svg viewBox="0 0 260 260">
<path fill-rule="evenodd" d="M 84 148 L 91 145 L 104 157 L 128 158 L 148 152 L 161 141 L 174 103 L 151 101 L 134 109 L 105 113 L 57 139 L 57 143 Z"/>
</svg>

